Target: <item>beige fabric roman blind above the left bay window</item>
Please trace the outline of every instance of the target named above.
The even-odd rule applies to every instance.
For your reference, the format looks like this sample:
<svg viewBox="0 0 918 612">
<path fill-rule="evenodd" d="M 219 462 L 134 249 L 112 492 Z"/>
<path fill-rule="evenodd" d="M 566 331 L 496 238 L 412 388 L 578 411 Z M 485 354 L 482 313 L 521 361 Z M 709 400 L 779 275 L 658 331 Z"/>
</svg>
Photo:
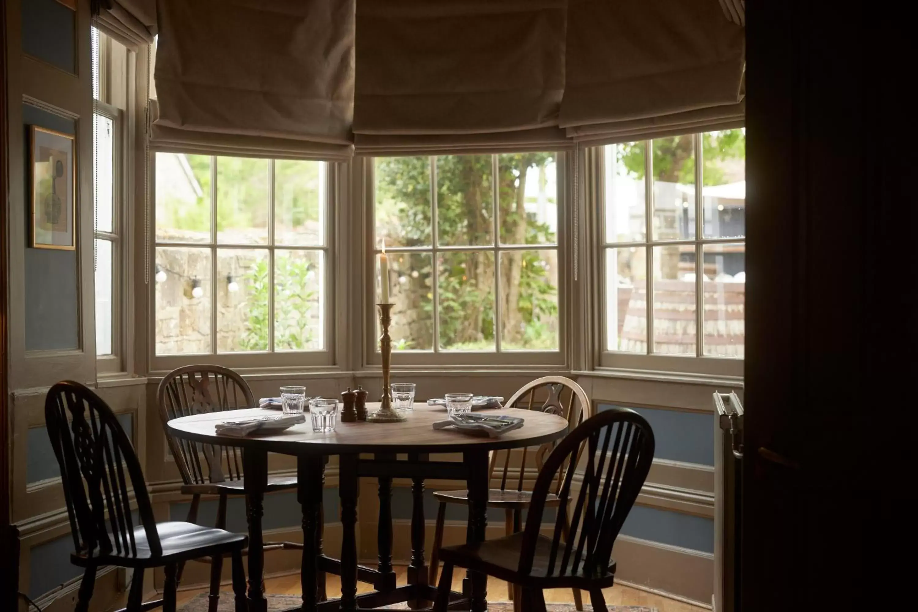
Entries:
<svg viewBox="0 0 918 612">
<path fill-rule="evenodd" d="M 151 147 L 349 156 L 354 0 L 158 0 Z"/>
</svg>

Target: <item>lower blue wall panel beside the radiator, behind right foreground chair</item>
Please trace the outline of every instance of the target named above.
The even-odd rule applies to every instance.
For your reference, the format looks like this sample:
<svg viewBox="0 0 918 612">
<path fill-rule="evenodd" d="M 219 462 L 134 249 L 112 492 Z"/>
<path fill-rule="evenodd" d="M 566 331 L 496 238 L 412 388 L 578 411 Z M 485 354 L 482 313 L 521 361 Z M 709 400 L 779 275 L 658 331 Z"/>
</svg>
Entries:
<svg viewBox="0 0 918 612">
<path fill-rule="evenodd" d="M 621 534 L 694 551 L 714 551 L 714 521 L 681 512 L 634 506 Z"/>
</svg>

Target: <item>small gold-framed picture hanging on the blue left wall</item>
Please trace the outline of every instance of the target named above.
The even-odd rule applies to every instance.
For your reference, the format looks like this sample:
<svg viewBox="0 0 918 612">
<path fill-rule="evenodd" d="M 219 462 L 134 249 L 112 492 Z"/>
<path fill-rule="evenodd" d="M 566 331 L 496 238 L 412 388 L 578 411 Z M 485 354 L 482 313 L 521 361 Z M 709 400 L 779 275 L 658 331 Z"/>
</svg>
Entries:
<svg viewBox="0 0 918 612">
<path fill-rule="evenodd" d="M 34 249 L 76 249 L 76 147 L 73 136 L 31 126 Z"/>
</svg>

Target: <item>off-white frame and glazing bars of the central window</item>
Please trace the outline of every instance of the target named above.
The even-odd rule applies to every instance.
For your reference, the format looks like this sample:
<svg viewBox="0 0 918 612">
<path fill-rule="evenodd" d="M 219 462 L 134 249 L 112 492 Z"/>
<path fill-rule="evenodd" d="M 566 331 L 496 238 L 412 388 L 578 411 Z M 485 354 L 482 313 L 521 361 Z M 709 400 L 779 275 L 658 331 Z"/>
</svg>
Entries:
<svg viewBox="0 0 918 612">
<path fill-rule="evenodd" d="M 512 153 L 513 151 L 509 151 Z M 545 151 L 549 152 L 549 151 Z M 471 252 L 471 251 L 491 251 L 494 253 L 495 265 L 498 266 L 498 272 L 495 273 L 495 325 L 499 329 L 499 253 L 509 250 L 556 250 L 558 253 L 558 349 L 556 351 L 526 351 L 513 350 L 501 351 L 499 332 L 495 338 L 495 351 L 444 351 L 440 349 L 438 341 L 438 313 L 439 293 L 434 290 L 433 300 L 433 349 L 431 351 L 393 351 L 392 367 L 405 369 L 450 369 L 450 368 L 467 368 L 479 366 L 495 366 L 499 368 L 532 368 L 544 372 L 546 370 L 567 370 L 569 369 L 569 296 L 571 294 L 570 281 L 568 277 L 568 257 L 567 257 L 567 231 L 569 212 L 566 203 L 568 201 L 568 180 L 567 172 L 570 168 L 568 153 L 565 151 L 551 151 L 554 153 L 556 160 L 556 181 L 557 181 L 557 241 L 554 244 L 525 244 L 525 245 L 506 245 L 499 243 L 498 216 L 494 215 L 494 243 L 491 245 L 471 245 L 471 246 L 442 246 L 438 243 L 437 231 L 437 173 L 436 158 L 431 155 L 431 246 L 425 247 L 386 247 L 386 253 L 431 253 L 434 261 L 431 286 L 436 288 L 437 277 L 439 273 L 438 266 L 435 264 L 437 253 L 440 252 Z M 467 153 L 456 151 L 455 153 L 446 153 L 448 155 L 465 155 Z M 382 156 L 381 156 L 382 157 Z M 422 156 L 419 156 L 422 157 Z M 379 367 L 382 364 L 379 352 L 379 343 L 376 331 L 376 322 L 378 320 L 378 308 L 375 306 L 376 296 L 376 260 L 382 252 L 380 243 L 375 235 L 375 158 L 363 158 L 364 185 L 358 185 L 354 193 L 363 194 L 363 198 L 358 198 L 365 211 L 364 235 L 366 236 L 366 248 L 364 257 L 364 334 L 363 334 L 363 352 L 364 366 Z M 498 154 L 492 157 L 492 168 L 494 176 L 498 175 Z M 357 173 L 357 172 L 355 172 Z M 493 206 L 498 206 L 498 184 L 493 181 Z"/>
</svg>

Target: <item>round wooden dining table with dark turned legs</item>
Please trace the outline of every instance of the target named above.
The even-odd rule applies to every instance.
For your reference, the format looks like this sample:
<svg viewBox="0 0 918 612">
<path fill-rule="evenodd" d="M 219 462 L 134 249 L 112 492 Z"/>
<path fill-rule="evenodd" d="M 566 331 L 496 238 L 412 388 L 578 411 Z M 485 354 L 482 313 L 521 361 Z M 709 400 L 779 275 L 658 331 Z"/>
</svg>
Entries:
<svg viewBox="0 0 918 612">
<path fill-rule="evenodd" d="M 378 404 L 368 404 L 370 411 Z M 441 406 L 415 406 L 405 423 L 341 423 L 331 433 L 314 433 L 309 422 L 283 432 L 257 438 L 218 436 L 214 426 L 221 421 L 243 420 L 277 414 L 260 408 L 204 413 L 169 421 L 170 434 L 185 440 L 206 444 L 235 446 L 244 449 L 243 467 L 247 517 L 249 519 L 249 609 L 264 612 L 267 601 L 262 591 L 263 537 L 262 515 L 264 490 L 268 481 L 267 453 L 297 456 L 297 497 L 303 510 L 303 562 L 301 583 L 303 610 L 334 609 L 350 612 L 362 608 L 387 606 L 399 601 L 420 604 L 431 601 L 434 585 L 427 584 L 424 564 L 423 487 L 426 478 L 465 480 L 468 488 L 469 529 L 467 541 L 485 539 L 487 527 L 488 453 L 502 449 L 530 447 L 557 440 L 565 435 L 567 421 L 538 410 L 503 408 L 487 414 L 522 417 L 526 424 L 499 438 L 477 438 L 453 428 L 433 429 L 432 423 L 446 419 Z M 463 454 L 462 462 L 431 462 L 431 453 Z M 362 459 L 361 453 L 374 459 Z M 398 455 L 406 455 L 399 459 Z M 339 455 L 339 495 L 341 496 L 341 561 L 326 557 L 321 551 L 320 517 L 324 465 L 327 457 Z M 355 526 L 357 522 L 358 481 L 361 476 L 379 479 L 379 566 L 377 570 L 358 568 Z M 390 499 L 392 479 L 412 481 L 412 513 L 409 585 L 397 587 L 392 569 L 392 514 Z M 341 600 L 320 602 L 316 576 L 327 571 L 341 572 Z M 358 577 L 375 584 L 376 591 L 357 597 Z M 487 576 L 469 572 L 464 590 L 469 609 L 487 609 Z M 460 594 L 456 594 L 461 597 Z M 298 609 L 298 608 L 297 608 Z"/>
</svg>

